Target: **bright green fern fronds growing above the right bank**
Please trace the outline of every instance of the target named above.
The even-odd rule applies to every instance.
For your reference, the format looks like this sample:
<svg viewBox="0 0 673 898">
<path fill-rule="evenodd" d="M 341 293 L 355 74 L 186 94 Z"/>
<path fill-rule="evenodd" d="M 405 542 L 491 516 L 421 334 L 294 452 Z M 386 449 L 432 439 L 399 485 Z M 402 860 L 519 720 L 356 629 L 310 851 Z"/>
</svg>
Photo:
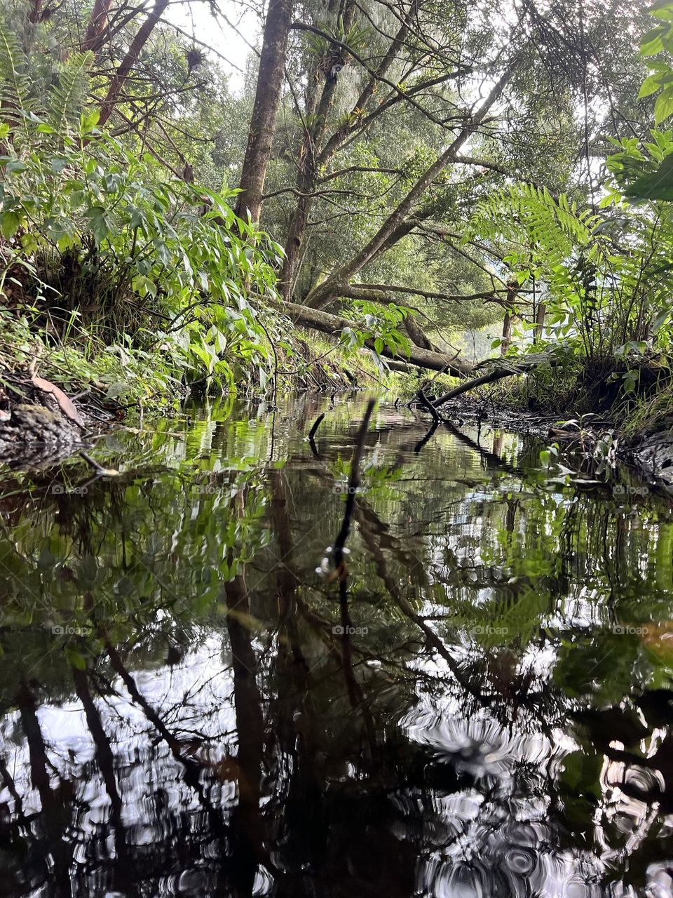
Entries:
<svg viewBox="0 0 673 898">
<path fill-rule="evenodd" d="M 546 304 L 546 339 L 592 362 L 626 366 L 624 392 L 634 389 L 629 361 L 669 346 L 668 263 L 673 222 L 668 209 L 625 215 L 625 171 L 655 164 L 670 152 L 670 135 L 652 132 L 654 142 L 621 142 L 610 158 L 615 180 L 596 213 L 564 194 L 520 185 L 483 201 L 465 240 L 494 245 L 514 285 Z M 536 322 L 524 319 L 523 330 Z M 539 341 L 538 341 L 539 342 Z"/>
</svg>

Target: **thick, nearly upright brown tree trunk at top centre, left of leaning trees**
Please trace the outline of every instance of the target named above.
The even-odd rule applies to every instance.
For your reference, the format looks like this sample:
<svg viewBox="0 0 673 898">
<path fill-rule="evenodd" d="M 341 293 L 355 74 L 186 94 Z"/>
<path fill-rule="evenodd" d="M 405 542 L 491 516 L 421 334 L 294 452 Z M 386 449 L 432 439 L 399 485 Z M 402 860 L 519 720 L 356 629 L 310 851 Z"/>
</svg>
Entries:
<svg viewBox="0 0 673 898">
<path fill-rule="evenodd" d="M 292 10 L 293 0 L 270 0 L 264 25 L 255 103 L 236 204 L 236 214 L 243 217 L 247 212 L 250 221 L 254 223 L 259 221 L 264 181 L 274 142 Z"/>
</svg>

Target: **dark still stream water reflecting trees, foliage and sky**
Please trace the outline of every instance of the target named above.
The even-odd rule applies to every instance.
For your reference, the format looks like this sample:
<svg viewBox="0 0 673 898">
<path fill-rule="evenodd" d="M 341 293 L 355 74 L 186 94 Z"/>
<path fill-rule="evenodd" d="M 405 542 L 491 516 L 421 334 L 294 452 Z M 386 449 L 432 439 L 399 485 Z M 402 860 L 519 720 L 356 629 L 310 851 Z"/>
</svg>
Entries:
<svg viewBox="0 0 673 898">
<path fill-rule="evenodd" d="M 0 895 L 673 894 L 669 506 L 383 404 L 342 633 L 363 407 L 4 470 Z"/>
</svg>

